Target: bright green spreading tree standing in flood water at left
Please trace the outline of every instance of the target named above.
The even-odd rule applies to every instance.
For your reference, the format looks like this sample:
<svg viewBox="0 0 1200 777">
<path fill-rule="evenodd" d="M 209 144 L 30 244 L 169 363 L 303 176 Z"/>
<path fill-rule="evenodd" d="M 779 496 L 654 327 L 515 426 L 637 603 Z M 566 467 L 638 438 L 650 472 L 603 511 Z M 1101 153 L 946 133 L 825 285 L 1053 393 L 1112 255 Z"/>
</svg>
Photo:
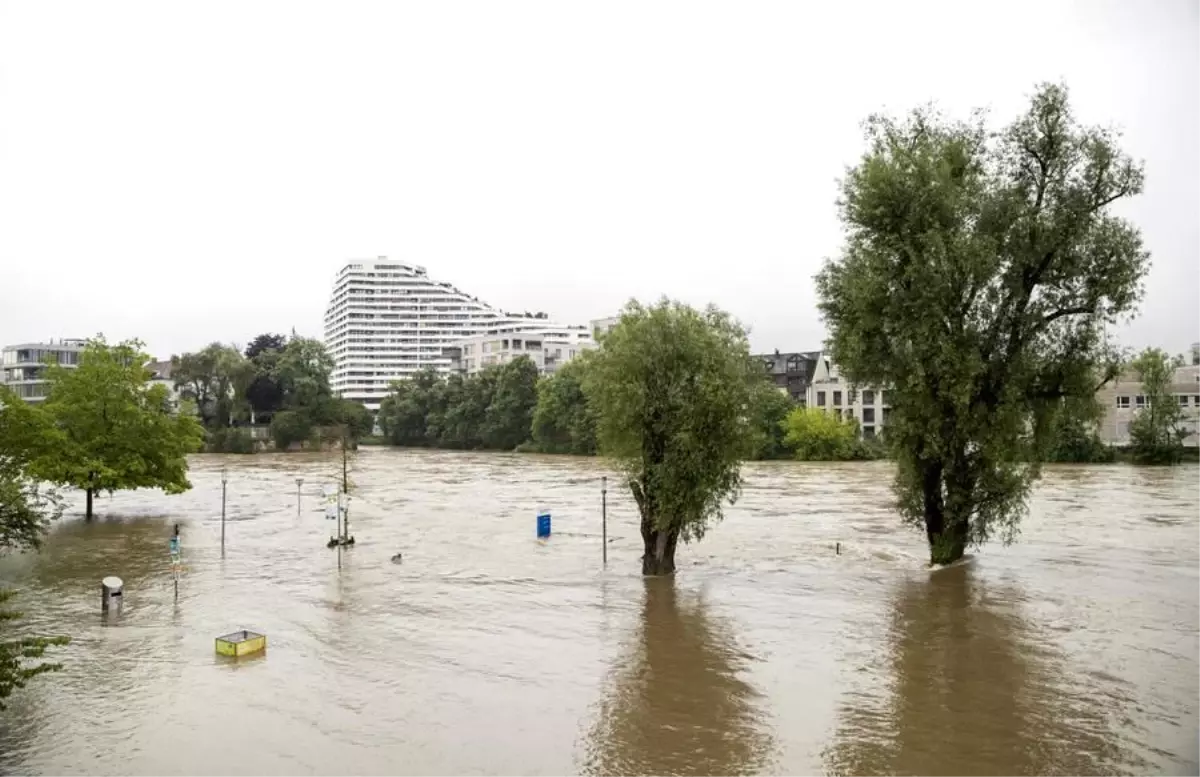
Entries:
<svg viewBox="0 0 1200 777">
<path fill-rule="evenodd" d="M 198 451 L 204 430 L 196 418 L 172 412 L 167 389 L 150 384 L 142 343 L 88 342 L 74 369 L 50 367 L 50 393 L 42 405 L 53 438 L 41 446 L 30 471 L 86 492 L 88 511 L 97 492 L 191 488 L 187 453 Z"/>
</svg>

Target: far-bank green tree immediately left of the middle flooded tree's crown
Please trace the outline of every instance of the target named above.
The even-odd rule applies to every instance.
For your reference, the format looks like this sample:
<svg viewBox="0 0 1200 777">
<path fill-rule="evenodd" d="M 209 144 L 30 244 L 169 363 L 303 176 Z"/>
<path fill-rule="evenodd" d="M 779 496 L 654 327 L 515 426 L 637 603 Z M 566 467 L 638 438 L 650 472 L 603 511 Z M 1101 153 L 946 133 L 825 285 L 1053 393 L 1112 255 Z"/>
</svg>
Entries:
<svg viewBox="0 0 1200 777">
<path fill-rule="evenodd" d="M 596 420 L 583 393 L 587 354 L 574 359 L 538 384 L 532 440 L 542 453 L 592 456 L 596 452 Z"/>
</svg>

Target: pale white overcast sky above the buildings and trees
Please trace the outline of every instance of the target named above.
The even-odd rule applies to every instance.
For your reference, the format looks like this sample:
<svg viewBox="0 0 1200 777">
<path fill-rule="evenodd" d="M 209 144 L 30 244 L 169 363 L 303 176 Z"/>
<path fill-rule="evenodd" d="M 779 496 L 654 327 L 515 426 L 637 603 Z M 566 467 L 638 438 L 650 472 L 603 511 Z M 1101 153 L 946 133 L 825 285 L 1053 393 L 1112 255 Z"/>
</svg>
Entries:
<svg viewBox="0 0 1200 777">
<path fill-rule="evenodd" d="M 319 337 L 350 258 L 564 323 L 716 302 L 820 348 L 869 113 L 1040 80 L 1126 131 L 1154 266 L 1122 341 L 1200 341 L 1200 0 L 0 0 L 0 342 Z"/>
</svg>

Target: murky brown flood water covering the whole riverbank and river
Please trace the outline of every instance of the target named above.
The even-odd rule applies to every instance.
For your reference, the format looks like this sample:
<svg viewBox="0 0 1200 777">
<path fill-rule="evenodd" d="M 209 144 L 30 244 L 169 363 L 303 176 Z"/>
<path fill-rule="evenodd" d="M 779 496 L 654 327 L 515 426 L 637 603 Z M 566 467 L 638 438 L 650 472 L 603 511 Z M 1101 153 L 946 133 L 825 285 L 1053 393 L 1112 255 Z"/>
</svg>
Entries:
<svg viewBox="0 0 1200 777">
<path fill-rule="evenodd" d="M 364 450 L 341 554 L 340 471 L 196 457 L 187 494 L 103 498 L 90 524 L 77 501 L 0 562 L 28 622 L 73 637 L 0 713 L 0 772 L 1200 773 L 1200 466 L 1051 469 L 1016 544 L 930 572 L 889 464 L 752 465 L 650 582 L 599 460 Z M 215 655 L 240 628 L 265 656 Z"/>
</svg>

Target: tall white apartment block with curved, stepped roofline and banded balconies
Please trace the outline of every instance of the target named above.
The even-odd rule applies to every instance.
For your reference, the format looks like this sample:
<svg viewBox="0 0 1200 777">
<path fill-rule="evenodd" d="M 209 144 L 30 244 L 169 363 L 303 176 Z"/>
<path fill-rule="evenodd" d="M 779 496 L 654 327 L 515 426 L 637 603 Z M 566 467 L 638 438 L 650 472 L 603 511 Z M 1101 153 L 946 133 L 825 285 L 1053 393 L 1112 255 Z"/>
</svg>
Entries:
<svg viewBox="0 0 1200 777">
<path fill-rule="evenodd" d="M 404 261 L 352 260 L 337 273 L 325 309 L 334 391 L 379 409 L 391 381 L 432 367 L 460 368 L 460 341 L 488 332 L 538 332 L 590 342 L 583 326 L 504 313 Z"/>
</svg>

